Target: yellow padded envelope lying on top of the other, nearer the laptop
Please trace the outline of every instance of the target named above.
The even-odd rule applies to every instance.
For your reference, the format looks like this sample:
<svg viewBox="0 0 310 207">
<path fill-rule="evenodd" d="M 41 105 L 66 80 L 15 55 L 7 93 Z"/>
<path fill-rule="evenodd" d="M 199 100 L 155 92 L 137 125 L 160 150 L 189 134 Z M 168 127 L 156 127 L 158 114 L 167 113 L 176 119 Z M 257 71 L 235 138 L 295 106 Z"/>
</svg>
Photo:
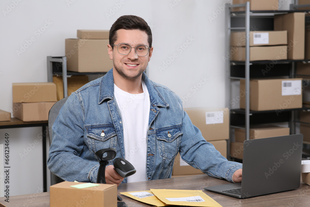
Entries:
<svg viewBox="0 0 310 207">
<path fill-rule="evenodd" d="M 163 203 L 182 206 L 222 207 L 202 191 L 151 189 Z"/>
</svg>

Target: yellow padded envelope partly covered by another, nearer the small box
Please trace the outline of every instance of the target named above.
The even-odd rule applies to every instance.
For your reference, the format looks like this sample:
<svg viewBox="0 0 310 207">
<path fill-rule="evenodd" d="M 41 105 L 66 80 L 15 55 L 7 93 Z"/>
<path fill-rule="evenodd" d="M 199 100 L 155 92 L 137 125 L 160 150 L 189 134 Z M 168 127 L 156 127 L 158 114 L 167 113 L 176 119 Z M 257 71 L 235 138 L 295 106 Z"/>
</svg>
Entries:
<svg viewBox="0 0 310 207">
<path fill-rule="evenodd" d="M 157 207 L 168 206 L 167 204 L 159 200 L 156 196 L 154 196 L 154 194 L 151 191 L 131 191 L 131 192 L 124 192 L 121 194 L 153 206 Z"/>
</svg>

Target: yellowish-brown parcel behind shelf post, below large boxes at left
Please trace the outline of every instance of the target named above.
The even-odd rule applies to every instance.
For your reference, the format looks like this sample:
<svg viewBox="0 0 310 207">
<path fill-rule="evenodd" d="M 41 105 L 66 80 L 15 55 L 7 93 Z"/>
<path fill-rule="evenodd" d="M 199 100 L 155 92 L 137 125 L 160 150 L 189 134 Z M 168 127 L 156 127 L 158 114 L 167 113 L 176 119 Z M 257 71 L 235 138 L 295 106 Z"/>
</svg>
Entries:
<svg viewBox="0 0 310 207">
<path fill-rule="evenodd" d="M 62 76 L 53 76 L 53 83 L 56 84 L 57 90 L 57 100 L 64 98 L 64 82 L 62 80 Z M 70 96 L 71 93 L 75 92 L 83 85 L 88 83 L 88 76 L 86 75 L 72 75 L 71 77 L 67 78 L 67 89 L 68 94 Z"/>
</svg>

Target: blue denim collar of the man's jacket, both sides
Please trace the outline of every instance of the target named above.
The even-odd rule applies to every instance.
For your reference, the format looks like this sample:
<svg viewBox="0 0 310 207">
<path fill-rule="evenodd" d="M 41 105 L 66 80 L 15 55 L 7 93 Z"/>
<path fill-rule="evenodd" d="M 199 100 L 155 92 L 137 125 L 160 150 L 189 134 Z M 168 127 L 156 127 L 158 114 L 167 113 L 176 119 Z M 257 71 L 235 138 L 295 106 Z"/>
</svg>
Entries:
<svg viewBox="0 0 310 207">
<path fill-rule="evenodd" d="M 146 74 L 143 72 L 142 79 L 148 88 L 148 93 L 150 95 L 150 102 L 153 106 L 167 107 L 169 104 L 164 100 L 160 92 L 155 87 L 154 83 L 148 79 Z M 99 102 L 101 104 L 105 99 L 114 98 L 114 79 L 113 79 L 113 69 L 109 70 L 100 81 L 100 94 Z"/>
</svg>

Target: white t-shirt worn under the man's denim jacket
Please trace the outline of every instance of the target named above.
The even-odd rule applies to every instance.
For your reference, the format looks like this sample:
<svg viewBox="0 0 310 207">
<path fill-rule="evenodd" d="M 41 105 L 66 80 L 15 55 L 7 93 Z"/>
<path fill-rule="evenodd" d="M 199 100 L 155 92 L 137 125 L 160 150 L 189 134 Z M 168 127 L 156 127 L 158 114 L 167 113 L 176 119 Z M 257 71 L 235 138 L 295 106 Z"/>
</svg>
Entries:
<svg viewBox="0 0 310 207">
<path fill-rule="evenodd" d="M 137 172 L 127 177 L 127 182 L 146 181 L 146 154 L 150 96 L 142 81 L 143 93 L 131 94 L 114 84 L 114 96 L 122 115 L 125 160 Z"/>
</svg>

